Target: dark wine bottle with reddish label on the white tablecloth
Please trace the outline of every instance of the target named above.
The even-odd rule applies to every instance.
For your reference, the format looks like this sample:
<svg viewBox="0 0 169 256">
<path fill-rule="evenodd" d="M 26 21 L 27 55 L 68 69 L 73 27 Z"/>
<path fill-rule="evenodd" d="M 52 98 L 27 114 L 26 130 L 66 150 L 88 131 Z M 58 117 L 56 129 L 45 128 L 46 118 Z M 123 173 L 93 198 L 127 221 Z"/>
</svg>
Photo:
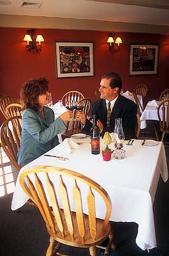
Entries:
<svg viewBox="0 0 169 256">
<path fill-rule="evenodd" d="M 99 127 L 97 125 L 96 115 L 93 115 L 93 124 L 91 127 L 91 152 L 94 155 L 99 154 Z"/>
</svg>

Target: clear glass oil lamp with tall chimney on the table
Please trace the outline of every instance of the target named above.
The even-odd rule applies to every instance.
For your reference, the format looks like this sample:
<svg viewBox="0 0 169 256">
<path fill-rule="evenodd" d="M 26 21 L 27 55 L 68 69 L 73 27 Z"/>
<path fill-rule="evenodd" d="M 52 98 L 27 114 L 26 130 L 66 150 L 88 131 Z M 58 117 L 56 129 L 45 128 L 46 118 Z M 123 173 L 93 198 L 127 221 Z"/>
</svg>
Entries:
<svg viewBox="0 0 169 256">
<path fill-rule="evenodd" d="M 124 159 L 126 151 L 122 149 L 122 143 L 125 138 L 124 131 L 122 129 L 122 118 L 115 118 L 114 134 L 115 150 L 112 152 L 112 157 L 115 159 Z"/>
</svg>

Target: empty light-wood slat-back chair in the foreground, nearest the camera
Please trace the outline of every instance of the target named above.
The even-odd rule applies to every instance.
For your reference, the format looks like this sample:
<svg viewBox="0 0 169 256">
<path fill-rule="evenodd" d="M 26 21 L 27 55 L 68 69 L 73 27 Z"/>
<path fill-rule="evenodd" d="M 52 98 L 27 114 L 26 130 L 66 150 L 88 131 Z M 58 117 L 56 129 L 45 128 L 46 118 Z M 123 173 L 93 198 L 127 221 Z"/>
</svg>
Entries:
<svg viewBox="0 0 169 256">
<path fill-rule="evenodd" d="M 47 256 L 55 255 L 61 244 L 89 248 L 90 254 L 95 256 L 96 246 L 107 237 L 110 241 L 105 255 L 110 246 L 115 249 L 109 224 L 111 201 L 105 189 L 94 180 L 64 168 L 33 166 L 20 175 L 19 181 L 22 189 L 38 205 L 46 223 L 50 235 Z M 102 200 L 105 205 L 104 220 L 96 218 L 98 200 L 99 204 Z"/>
</svg>

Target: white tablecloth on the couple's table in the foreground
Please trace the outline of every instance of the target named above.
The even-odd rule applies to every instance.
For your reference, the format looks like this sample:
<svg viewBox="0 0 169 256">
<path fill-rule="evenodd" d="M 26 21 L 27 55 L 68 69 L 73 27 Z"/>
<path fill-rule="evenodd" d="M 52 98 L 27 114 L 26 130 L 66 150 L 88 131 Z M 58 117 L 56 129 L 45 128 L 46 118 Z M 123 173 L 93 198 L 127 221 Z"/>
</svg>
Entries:
<svg viewBox="0 0 169 256">
<path fill-rule="evenodd" d="M 126 159 L 112 159 L 106 162 L 103 161 L 101 154 L 91 154 L 88 136 L 78 141 L 83 143 L 80 144 L 80 148 L 71 150 L 69 160 L 61 161 L 55 157 L 40 156 L 22 168 L 20 173 L 24 172 L 26 167 L 37 164 L 60 166 L 83 173 L 103 186 L 109 194 L 112 200 L 110 220 L 138 223 L 136 243 L 143 250 L 154 248 L 156 234 L 152 205 L 160 173 L 164 181 L 168 179 L 163 143 L 158 142 L 158 145 L 148 147 L 142 146 L 141 140 L 135 140 L 133 146 L 128 146 L 124 141 Z M 101 148 L 105 148 L 102 142 Z M 57 147 L 48 154 L 52 152 L 56 154 Z M 27 199 L 17 179 L 11 209 L 22 207 Z M 96 212 L 96 215 L 103 218 L 102 212 Z"/>
</svg>

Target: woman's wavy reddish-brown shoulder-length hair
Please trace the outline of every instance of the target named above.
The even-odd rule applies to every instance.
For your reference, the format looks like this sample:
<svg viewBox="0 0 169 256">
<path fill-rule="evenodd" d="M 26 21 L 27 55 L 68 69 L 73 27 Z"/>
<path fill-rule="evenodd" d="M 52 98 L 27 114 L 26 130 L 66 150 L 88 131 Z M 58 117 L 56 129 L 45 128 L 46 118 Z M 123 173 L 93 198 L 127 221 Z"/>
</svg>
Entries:
<svg viewBox="0 0 169 256">
<path fill-rule="evenodd" d="M 48 91 L 48 80 L 46 77 L 30 79 L 22 85 L 20 90 L 20 102 L 23 109 L 31 108 L 38 111 L 38 97 Z"/>
</svg>

